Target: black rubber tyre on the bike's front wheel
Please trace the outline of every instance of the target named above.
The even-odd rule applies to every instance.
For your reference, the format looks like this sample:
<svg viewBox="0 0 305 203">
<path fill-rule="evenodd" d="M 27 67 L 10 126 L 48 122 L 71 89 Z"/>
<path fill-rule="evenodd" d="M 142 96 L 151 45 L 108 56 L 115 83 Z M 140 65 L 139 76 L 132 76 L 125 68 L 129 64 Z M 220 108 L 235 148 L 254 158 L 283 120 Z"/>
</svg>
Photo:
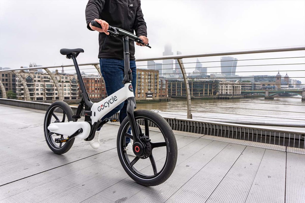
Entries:
<svg viewBox="0 0 305 203">
<path fill-rule="evenodd" d="M 154 158 L 152 158 L 153 161 L 155 162 L 154 166 L 155 166 L 155 169 L 157 172 L 157 173 L 155 173 L 155 169 L 154 169 L 152 160 L 150 160 L 150 162 L 152 164 L 152 169 L 154 172 L 154 175 L 152 175 L 152 176 L 145 176 L 144 174 L 140 173 L 137 169 L 134 168 L 135 163 L 133 163 L 131 165 L 131 163 L 134 160 L 132 162 L 130 162 L 130 160 L 127 156 L 126 149 L 125 149 L 126 144 L 124 144 L 125 139 L 126 139 L 126 132 L 128 131 L 129 126 L 130 126 L 129 120 L 127 117 L 121 123 L 119 131 L 118 131 L 118 135 L 117 135 L 117 152 L 119 155 L 120 163 L 123 166 L 125 172 L 133 180 L 135 180 L 135 182 L 137 182 L 141 185 L 144 185 L 144 186 L 159 185 L 170 177 L 170 175 L 173 173 L 174 168 L 176 166 L 177 154 L 178 154 L 176 138 L 174 136 L 174 133 L 173 133 L 170 125 L 165 121 L 165 119 L 162 116 L 160 116 L 156 112 L 152 112 L 149 110 L 137 110 L 134 112 L 134 115 L 135 115 L 135 119 L 137 122 L 139 122 L 139 120 L 144 120 L 143 122 L 145 123 L 146 122 L 145 120 L 147 120 L 151 123 L 151 125 L 154 124 L 158 129 L 160 129 L 160 133 L 163 135 L 164 143 L 166 144 L 165 163 L 164 163 L 164 166 L 162 167 L 162 169 L 159 172 L 157 172 L 156 162 L 154 161 Z M 144 124 L 145 129 L 146 129 L 146 126 L 148 126 L 147 123 L 149 123 L 149 122 L 146 122 Z M 138 124 L 138 126 L 139 126 L 139 124 Z M 149 129 L 149 127 L 147 127 L 147 129 Z M 142 130 L 141 130 L 141 132 L 142 132 Z M 148 133 L 149 133 L 149 131 L 148 131 Z M 146 130 L 145 130 L 145 134 L 146 134 Z M 160 143 L 151 143 L 151 144 L 154 144 L 154 146 L 156 146 L 156 144 L 160 144 Z M 154 148 L 157 148 L 157 147 L 154 147 Z M 153 148 L 152 148 L 152 153 L 153 153 Z M 149 159 L 150 159 L 150 157 L 149 157 Z M 162 164 L 161 164 L 161 166 L 162 166 Z M 149 166 L 147 166 L 147 167 L 149 168 Z"/>
</svg>

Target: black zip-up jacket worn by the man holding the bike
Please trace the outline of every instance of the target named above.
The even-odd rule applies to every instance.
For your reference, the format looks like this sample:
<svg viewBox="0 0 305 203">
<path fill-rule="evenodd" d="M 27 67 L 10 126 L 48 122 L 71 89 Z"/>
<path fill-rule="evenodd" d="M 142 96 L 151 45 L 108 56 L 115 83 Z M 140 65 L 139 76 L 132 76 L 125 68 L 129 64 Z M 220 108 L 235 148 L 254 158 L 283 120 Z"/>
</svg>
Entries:
<svg viewBox="0 0 305 203">
<path fill-rule="evenodd" d="M 102 19 L 110 26 L 147 37 L 140 0 L 89 0 L 86 6 L 86 21 Z M 135 43 L 129 41 L 130 60 L 135 60 Z M 124 59 L 123 38 L 99 33 L 99 58 Z"/>
</svg>

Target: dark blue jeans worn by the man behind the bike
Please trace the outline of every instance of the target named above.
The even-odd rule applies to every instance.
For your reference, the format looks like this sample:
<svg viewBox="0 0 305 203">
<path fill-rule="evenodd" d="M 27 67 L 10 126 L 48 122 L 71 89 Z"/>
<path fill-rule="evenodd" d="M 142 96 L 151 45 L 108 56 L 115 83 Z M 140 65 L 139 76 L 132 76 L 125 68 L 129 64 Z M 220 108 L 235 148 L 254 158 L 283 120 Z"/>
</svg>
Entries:
<svg viewBox="0 0 305 203">
<path fill-rule="evenodd" d="M 135 65 L 135 60 L 129 62 L 131 74 L 132 74 L 132 87 L 135 94 L 135 88 L 137 84 L 137 67 Z M 102 76 L 105 81 L 107 95 L 113 94 L 114 92 L 118 91 L 124 84 L 122 84 L 124 78 L 124 60 L 118 59 L 99 59 L 99 65 L 101 68 Z M 127 100 L 122 102 L 116 108 L 111 110 L 107 113 L 102 120 L 113 116 L 115 113 L 120 111 L 119 114 L 119 121 L 120 123 L 123 122 L 124 118 L 127 116 Z M 98 131 L 101 128 L 97 129 Z M 129 128 L 128 133 L 131 133 L 131 128 Z M 126 144 L 130 142 L 130 138 L 126 137 Z"/>
</svg>

